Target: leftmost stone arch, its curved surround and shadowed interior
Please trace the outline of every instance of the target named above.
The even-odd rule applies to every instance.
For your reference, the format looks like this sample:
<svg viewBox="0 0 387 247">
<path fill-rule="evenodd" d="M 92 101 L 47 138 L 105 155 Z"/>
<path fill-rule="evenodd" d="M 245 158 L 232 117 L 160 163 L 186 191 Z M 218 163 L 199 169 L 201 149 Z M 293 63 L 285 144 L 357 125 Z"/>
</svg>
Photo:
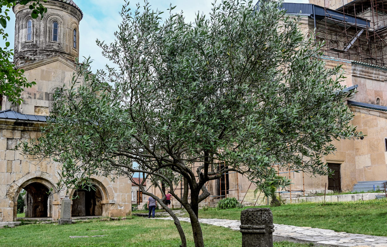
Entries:
<svg viewBox="0 0 387 247">
<path fill-rule="evenodd" d="M 31 202 L 31 205 L 30 205 L 31 211 L 36 210 L 34 208 L 39 208 L 39 210 L 42 211 L 43 213 L 44 213 L 44 210 L 46 210 L 46 212 L 44 214 L 42 214 L 42 215 L 45 215 L 44 217 L 55 217 L 55 215 L 57 215 L 57 213 L 55 212 L 55 209 L 53 207 L 53 202 L 59 200 L 59 196 L 57 193 L 58 190 L 55 187 L 55 185 L 52 182 L 50 182 L 50 180 L 42 177 L 41 175 L 42 175 L 42 173 L 40 175 L 29 173 L 28 175 L 20 178 L 19 180 L 15 181 L 11 184 L 11 186 L 7 192 L 7 197 L 10 199 L 10 201 L 13 202 L 14 221 L 17 220 L 17 198 L 19 197 L 20 192 L 24 188 L 27 188 L 27 193 L 32 193 L 32 194 L 33 194 L 34 188 L 36 190 L 40 190 L 39 192 L 38 191 L 36 191 L 36 192 L 40 196 L 43 196 L 43 198 L 41 199 L 42 201 L 39 202 L 41 205 L 43 205 L 43 211 L 42 211 L 42 207 L 39 207 L 39 205 L 37 205 L 37 202 L 34 201 L 34 198 L 33 198 L 34 195 L 30 195 L 29 201 Z M 48 175 L 48 173 L 47 173 L 47 175 Z M 53 189 L 52 192 L 50 192 L 51 188 Z M 49 194 L 47 194 L 47 196 L 46 196 L 44 194 L 44 192 L 49 192 Z M 36 195 L 36 196 L 38 196 L 38 195 Z M 46 206 L 45 206 L 45 203 L 46 203 Z M 35 214 L 31 214 L 31 215 L 29 215 L 29 217 L 34 216 L 34 215 L 38 215 L 39 212 L 38 211 L 34 212 Z M 38 217 L 41 217 L 41 216 L 38 216 Z"/>
</svg>

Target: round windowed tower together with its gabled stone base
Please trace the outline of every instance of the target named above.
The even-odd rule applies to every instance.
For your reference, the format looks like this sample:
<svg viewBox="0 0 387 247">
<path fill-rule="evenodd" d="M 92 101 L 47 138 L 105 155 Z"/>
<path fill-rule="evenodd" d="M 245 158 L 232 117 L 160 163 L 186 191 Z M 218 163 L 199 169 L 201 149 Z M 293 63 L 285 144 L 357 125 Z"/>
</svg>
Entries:
<svg viewBox="0 0 387 247">
<path fill-rule="evenodd" d="M 13 9 L 16 15 L 14 63 L 24 70 L 27 81 L 36 85 L 24 88 L 20 105 L 4 98 L 1 110 L 49 115 L 53 93 L 67 84 L 75 71 L 82 11 L 72 0 L 47 0 L 43 5 L 47 8 L 43 19 L 33 19 L 28 4 L 17 4 Z"/>
</svg>

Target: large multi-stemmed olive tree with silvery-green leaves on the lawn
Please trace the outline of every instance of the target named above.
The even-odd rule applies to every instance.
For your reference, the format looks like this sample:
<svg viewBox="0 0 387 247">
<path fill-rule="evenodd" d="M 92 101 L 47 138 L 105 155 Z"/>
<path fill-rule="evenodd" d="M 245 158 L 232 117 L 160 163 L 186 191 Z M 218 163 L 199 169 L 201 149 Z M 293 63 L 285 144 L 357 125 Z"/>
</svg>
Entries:
<svg viewBox="0 0 387 247">
<path fill-rule="evenodd" d="M 78 65 L 55 94 L 42 137 L 24 151 L 63 163 L 64 184 L 143 174 L 163 197 L 137 185 L 173 216 L 186 246 L 162 182 L 204 246 L 206 182 L 237 172 L 259 185 L 275 178 L 273 164 L 327 175 L 321 158 L 334 152 L 332 141 L 358 135 L 341 68 L 325 68 L 320 45 L 280 5 L 223 0 L 186 22 L 173 7 L 163 19 L 147 2 L 134 10 L 126 2 L 115 42 L 97 41 L 115 67 L 92 74 L 89 60 Z M 173 191 L 180 179 L 182 196 Z"/>
</svg>

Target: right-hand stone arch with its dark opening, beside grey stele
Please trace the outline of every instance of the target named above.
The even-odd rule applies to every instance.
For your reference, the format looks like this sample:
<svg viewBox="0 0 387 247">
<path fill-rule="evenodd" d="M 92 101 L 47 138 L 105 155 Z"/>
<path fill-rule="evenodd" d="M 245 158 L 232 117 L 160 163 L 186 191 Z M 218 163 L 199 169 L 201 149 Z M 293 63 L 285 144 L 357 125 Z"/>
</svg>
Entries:
<svg viewBox="0 0 387 247">
<path fill-rule="evenodd" d="M 91 178 L 95 190 L 72 189 L 72 216 L 109 216 L 109 194 L 97 179 Z M 73 199 L 75 197 L 77 198 Z"/>
</svg>

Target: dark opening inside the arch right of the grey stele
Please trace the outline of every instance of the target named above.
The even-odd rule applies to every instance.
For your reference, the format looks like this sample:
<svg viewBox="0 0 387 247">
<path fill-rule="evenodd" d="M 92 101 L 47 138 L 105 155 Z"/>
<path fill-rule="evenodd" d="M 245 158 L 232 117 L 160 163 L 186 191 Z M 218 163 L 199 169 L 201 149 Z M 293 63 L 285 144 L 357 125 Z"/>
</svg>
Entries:
<svg viewBox="0 0 387 247">
<path fill-rule="evenodd" d="M 72 201 L 71 215 L 72 216 L 101 216 L 102 215 L 102 195 L 101 191 L 96 188 L 77 189 L 74 192 Z"/>
</svg>

